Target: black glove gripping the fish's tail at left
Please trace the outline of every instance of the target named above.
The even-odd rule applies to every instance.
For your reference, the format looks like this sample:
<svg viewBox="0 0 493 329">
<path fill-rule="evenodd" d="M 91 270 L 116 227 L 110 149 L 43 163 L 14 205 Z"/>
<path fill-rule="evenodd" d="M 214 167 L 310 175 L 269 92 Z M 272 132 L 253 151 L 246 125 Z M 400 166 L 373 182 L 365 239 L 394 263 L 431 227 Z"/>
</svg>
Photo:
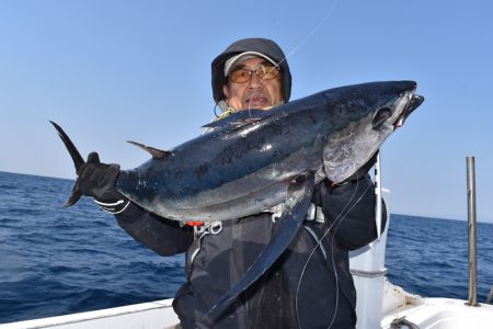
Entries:
<svg viewBox="0 0 493 329">
<path fill-rule="evenodd" d="M 101 163 L 100 156 L 91 152 L 77 174 L 77 189 L 82 194 L 92 196 L 102 209 L 117 214 L 128 206 L 129 201 L 115 189 L 119 174 L 118 164 Z"/>
</svg>

